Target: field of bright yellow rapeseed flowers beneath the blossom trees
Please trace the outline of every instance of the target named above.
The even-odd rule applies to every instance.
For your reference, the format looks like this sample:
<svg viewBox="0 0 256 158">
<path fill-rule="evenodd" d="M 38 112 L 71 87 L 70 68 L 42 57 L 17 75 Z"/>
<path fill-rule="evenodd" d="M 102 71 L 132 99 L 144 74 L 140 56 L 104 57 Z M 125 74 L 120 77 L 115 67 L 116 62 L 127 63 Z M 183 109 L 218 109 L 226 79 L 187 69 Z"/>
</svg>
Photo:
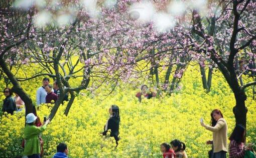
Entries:
<svg viewBox="0 0 256 158">
<path fill-rule="evenodd" d="M 5 83 L 0 82 L 0 88 L 3 89 Z M 209 124 L 210 112 L 219 108 L 227 121 L 228 135 L 234 127 L 234 96 L 218 71 L 213 74 L 211 92 L 208 94 L 202 88 L 201 76 L 195 67 L 188 68 L 180 83 L 181 89 L 176 90 L 172 96 L 143 99 L 140 103 L 135 97 L 140 87 L 134 85 L 121 83 L 108 97 L 105 95 L 109 92 L 110 85 L 103 85 L 92 93 L 88 90 L 81 91 L 68 116 L 63 114 L 67 103 L 61 105 L 42 135 L 45 142 L 44 157 L 52 157 L 59 142 L 67 143 L 69 157 L 162 157 L 160 144 L 173 139 L 185 142 L 189 157 L 207 157 L 210 146 L 205 142 L 212 138 L 212 133 L 200 126 L 200 118 L 203 117 L 205 123 Z M 35 101 L 36 90 L 41 86 L 41 78 L 24 82 L 22 86 Z M 251 97 L 250 88 L 246 93 L 246 140 L 255 142 L 255 100 Z M 5 98 L 2 93 L 0 98 L 1 101 Z M 112 104 L 120 108 L 121 139 L 117 148 L 114 147 L 112 137 L 99 134 L 103 131 L 109 116 L 108 108 Z M 38 107 L 41 120 L 50 113 L 50 110 L 51 106 Z M 1 118 L 0 157 L 22 155 L 24 114 L 23 110 Z"/>
</svg>

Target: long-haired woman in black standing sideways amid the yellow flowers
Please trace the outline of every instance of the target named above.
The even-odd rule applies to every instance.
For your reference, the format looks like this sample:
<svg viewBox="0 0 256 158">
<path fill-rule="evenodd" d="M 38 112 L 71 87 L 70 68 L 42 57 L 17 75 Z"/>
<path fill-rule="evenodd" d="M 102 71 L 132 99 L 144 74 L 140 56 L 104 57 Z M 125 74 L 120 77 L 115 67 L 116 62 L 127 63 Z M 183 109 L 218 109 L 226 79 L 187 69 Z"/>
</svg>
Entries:
<svg viewBox="0 0 256 158">
<path fill-rule="evenodd" d="M 111 129 L 110 136 L 114 137 L 116 146 L 118 145 L 118 135 L 119 135 L 119 123 L 120 123 L 120 115 L 119 115 L 119 107 L 117 105 L 112 105 L 108 110 L 110 117 L 107 120 L 104 126 L 103 135 L 106 135 L 107 130 Z"/>
</svg>

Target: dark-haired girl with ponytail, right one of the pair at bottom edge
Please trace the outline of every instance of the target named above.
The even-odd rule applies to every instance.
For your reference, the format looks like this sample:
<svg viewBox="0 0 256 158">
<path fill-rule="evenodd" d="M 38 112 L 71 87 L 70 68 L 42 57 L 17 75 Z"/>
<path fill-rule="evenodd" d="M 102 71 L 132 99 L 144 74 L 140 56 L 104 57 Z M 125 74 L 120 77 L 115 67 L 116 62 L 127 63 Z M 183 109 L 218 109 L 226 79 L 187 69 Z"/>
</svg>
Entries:
<svg viewBox="0 0 256 158">
<path fill-rule="evenodd" d="M 188 155 L 185 151 L 186 145 L 184 142 L 181 142 L 178 139 L 171 141 L 172 148 L 174 149 L 174 152 L 176 154 L 177 158 L 188 158 Z"/>
</svg>

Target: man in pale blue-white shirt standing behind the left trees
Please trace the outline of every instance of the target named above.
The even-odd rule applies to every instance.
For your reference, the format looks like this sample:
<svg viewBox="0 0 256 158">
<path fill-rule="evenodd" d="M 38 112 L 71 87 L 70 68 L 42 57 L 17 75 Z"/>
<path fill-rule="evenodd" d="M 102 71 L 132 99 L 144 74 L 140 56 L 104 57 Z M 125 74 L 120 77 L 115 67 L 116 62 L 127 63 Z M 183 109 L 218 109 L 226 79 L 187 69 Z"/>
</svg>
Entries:
<svg viewBox="0 0 256 158">
<path fill-rule="evenodd" d="M 40 105 L 46 102 L 45 98 L 46 98 L 47 92 L 45 91 L 45 86 L 49 85 L 49 82 L 50 82 L 50 79 L 45 77 L 43 79 L 43 86 L 38 88 L 37 95 L 36 95 L 37 105 Z"/>
</svg>

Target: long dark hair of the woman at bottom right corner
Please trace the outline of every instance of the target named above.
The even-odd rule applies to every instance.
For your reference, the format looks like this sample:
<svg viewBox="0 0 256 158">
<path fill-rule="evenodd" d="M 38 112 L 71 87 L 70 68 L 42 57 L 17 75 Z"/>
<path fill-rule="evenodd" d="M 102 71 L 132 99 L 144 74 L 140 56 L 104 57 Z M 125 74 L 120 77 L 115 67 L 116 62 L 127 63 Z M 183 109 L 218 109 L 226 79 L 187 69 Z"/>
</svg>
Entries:
<svg viewBox="0 0 256 158">
<path fill-rule="evenodd" d="M 242 124 L 237 124 L 234 127 L 232 134 L 229 137 L 229 140 L 235 140 L 236 143 L 240 144 L 245 142 L 245 128 Z"/>
</svg>

